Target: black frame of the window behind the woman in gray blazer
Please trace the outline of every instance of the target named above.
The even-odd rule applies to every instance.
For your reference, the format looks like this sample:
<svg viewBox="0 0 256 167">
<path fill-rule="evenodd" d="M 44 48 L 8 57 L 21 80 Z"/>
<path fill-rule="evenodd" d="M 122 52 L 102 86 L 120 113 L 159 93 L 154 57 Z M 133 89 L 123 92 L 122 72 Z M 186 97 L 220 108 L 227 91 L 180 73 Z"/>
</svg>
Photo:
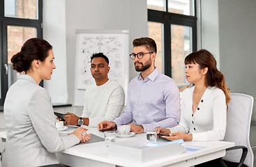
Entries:
<svg viewBox="0 0 256 167">
<path fill-rule="evenodd" d="M 36 37 L 43 38 L 43 0 L 38 0 L 38 19 L 27 19 L 4 16 L 4 0 L 0 0 L 0 65 L 1 65 L 1 97 L 0 111 L 8 90 L 8 74 L 5 64 L 8 63 L 7 26 L 27 26 L 36 29 Z M 43 86 L 43 82 L 40 83 Z"/>
</svg>

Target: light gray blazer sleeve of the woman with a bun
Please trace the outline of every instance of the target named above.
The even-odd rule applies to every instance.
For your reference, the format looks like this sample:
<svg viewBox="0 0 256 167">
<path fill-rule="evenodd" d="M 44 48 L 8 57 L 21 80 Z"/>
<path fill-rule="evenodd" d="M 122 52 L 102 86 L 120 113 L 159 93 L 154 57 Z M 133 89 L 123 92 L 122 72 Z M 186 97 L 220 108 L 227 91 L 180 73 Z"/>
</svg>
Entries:
<svg viewBox="0 0 256 167">
<path fill-rule="evenodd" d="M 38 89 L 33 93 L 27 109 L 33 129 L 49 152 L 61 152 L 80 143 L 79 138 L 73 134 L 65 137 L 59 136 L 55 127 L 56 117 L 50 96 L 45 89 Z"/>
</svg>

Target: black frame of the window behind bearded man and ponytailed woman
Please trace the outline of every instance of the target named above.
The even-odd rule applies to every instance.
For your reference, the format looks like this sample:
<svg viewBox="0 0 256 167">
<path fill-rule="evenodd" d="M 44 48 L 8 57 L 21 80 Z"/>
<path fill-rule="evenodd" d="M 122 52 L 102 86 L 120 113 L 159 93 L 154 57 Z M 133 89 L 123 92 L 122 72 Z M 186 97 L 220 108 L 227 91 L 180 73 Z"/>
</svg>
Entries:
<svg viewBox="0 0 256 167">
<path fill-rule="evenodd" d="M 196 11 L 196 1 L 194 1 L 194 11 Z M 192 28 L 192 50 L 197 51 L 197 17 L 191 15 L 181 15 L 168 12 L 168 0 L 165 0 L 165 11 L 148 9 L 148 22 L 158 22 L 163 24 L 163 64 L 164 73 L 172 77 L 172 44 L 171 26 L 190 26 Z"/>
</svg>

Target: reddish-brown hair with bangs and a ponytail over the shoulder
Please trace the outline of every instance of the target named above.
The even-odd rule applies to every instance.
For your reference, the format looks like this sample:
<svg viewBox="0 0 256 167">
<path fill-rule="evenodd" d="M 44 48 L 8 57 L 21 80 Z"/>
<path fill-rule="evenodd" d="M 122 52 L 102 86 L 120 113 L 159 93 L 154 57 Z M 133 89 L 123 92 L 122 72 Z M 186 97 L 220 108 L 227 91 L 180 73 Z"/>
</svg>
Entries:
<svg viewBox="0 0 256 167">
<path fill-rule="evenodd" d="M 223 93 L 226 96 L 226 104 L 229 103 L 230 96 L 227 91 L 227 85 L 225 83 L 224 75 L 217 69 L 216 59 L 209 51 L 207 51 L 206 49 L 201 49 L 199 51 L 188 54 L 188 56 L 186 56 L 185 58 L 184 63 L 185 65 L 197 63 L 199 64 L 199 67 L 201 69 L 208 67 L 205 83 L 206 86 L 216 86 L 217 88 L 223 90 Z"/>
</svg>

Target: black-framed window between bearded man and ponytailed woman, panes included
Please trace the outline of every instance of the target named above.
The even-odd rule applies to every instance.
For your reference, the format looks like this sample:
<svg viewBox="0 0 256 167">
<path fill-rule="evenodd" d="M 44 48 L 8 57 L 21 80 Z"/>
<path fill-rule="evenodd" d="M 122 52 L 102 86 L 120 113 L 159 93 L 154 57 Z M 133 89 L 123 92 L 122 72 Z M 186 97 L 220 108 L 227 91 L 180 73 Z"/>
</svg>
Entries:
<svg viewBox="0 0 256 167">
<path fill-rule="evenodd" d="M 195 0 L 147 0 L 149 37 L 156 40 L 156 67 L 177 86 L 188 85 L 184 58 L 197 50 Z"/>
</svg>

